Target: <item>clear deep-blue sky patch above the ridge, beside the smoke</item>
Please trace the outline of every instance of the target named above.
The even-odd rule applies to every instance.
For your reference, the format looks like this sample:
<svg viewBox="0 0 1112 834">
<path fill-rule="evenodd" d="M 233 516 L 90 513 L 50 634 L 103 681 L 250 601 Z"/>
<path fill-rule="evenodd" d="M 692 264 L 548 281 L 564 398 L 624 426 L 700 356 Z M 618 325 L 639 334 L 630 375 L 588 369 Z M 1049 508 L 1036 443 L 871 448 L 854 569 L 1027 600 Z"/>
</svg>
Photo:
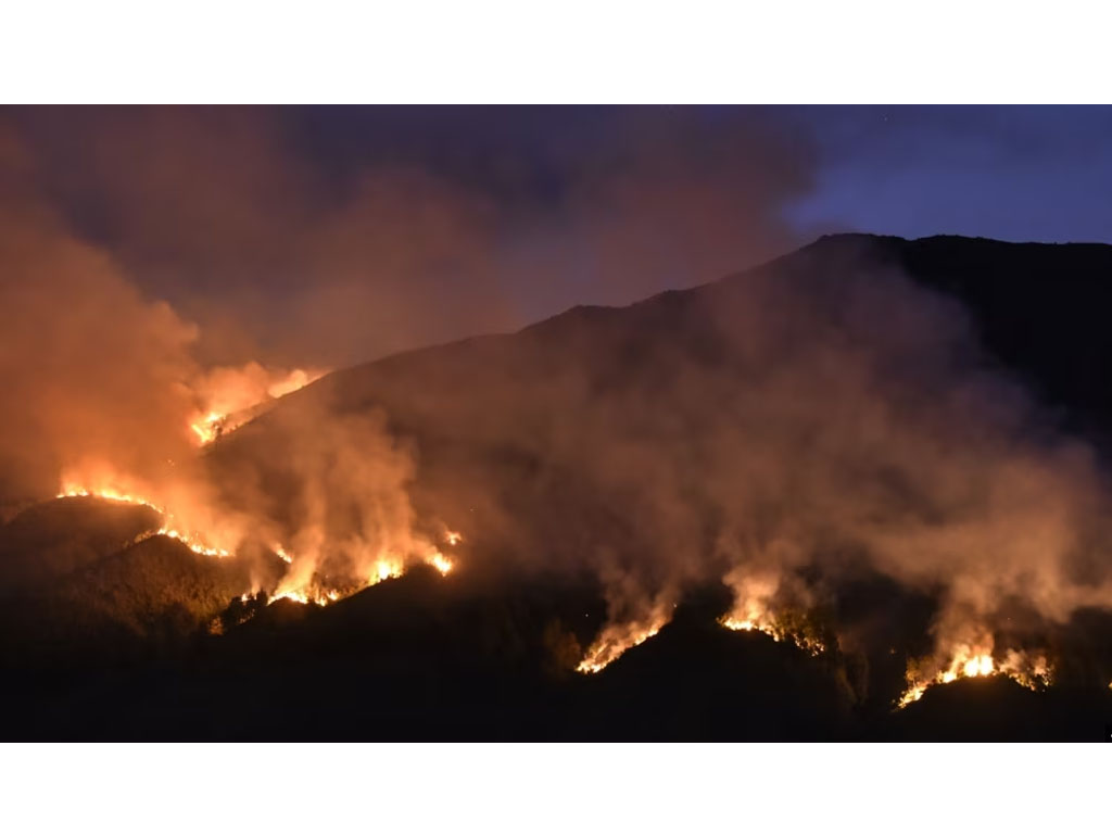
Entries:
<svg viewBox="0 0 1112 834">
<path fill-rule="evenodd" d="M 798 228 L 1112 242 L 1112 108 L 848 107 L 803 113 L 820 148 Z"/>
</svg>

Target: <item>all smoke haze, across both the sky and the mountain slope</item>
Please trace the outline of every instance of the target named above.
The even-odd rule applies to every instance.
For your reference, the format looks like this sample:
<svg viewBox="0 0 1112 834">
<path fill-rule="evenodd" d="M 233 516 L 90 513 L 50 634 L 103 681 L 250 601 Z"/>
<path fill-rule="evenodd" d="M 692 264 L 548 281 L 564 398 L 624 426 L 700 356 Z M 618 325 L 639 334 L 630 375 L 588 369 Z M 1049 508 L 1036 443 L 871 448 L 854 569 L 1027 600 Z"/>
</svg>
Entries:
<svg viewBox="0 0 1112 834">
<path fill-rule="evenodd" d="M 200 454 L 210 411 L 230 431 L 324 368 L 783 251 L 813 175 L 762 113 L 589 115 L 539 163 L 398 142 L 337 170 L 302 148 L 342 143 L 342 120 L 314 139 L 336 113 L 284 118 L 0 117 L 6 498 L 141 493 L 211 545 L 290 550 L 279 590 L 357 587 L 459 526 L 479 562 L 596 578 L 602 659 L 707 582 L 746 618 L 865 568 L 936 594 L 939 668 L 1023 648 L 995 645 L 1004 612 L 1112 604 L 1092 450 L 955 300 L 815 254 L 336 374 Z"/>
</svg>

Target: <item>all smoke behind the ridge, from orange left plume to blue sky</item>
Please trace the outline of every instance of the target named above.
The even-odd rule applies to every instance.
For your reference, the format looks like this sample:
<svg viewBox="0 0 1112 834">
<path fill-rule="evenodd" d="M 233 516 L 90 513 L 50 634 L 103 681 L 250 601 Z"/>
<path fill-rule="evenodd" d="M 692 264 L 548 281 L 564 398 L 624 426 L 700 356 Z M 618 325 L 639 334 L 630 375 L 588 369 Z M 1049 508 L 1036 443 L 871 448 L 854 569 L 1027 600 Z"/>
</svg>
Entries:
<svg viewBox="0 0 1112 834">
<path fill-rule="evenodd" d="M 808 181 L 767 113 L 0 113 L 4 500 L 61 481 L 229 527 L 197 441 L 286 369 L 714 277 L 786 244 L 778 208 Z"/>
</svg>

